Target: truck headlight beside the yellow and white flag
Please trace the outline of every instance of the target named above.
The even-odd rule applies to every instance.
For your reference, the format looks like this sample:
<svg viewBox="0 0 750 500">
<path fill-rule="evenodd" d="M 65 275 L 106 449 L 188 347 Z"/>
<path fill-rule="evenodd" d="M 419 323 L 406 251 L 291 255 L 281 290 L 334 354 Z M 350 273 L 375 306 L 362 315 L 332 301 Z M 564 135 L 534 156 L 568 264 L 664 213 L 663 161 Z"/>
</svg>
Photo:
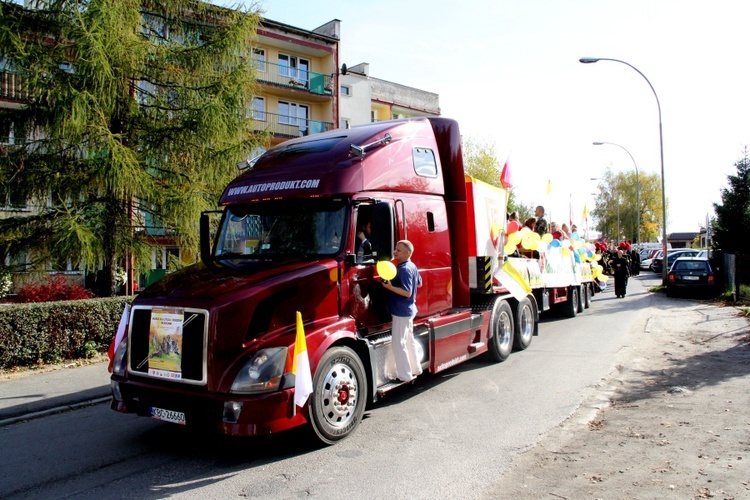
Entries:
<svg viewBox="0 0 750 500">
<path fill-rule="evenodd" d="M 278 390 L 287 353 L 286 347 L 269 347 L 256 352 L 234 378 L 229 392 L 260 394 Z"/>
</svg>

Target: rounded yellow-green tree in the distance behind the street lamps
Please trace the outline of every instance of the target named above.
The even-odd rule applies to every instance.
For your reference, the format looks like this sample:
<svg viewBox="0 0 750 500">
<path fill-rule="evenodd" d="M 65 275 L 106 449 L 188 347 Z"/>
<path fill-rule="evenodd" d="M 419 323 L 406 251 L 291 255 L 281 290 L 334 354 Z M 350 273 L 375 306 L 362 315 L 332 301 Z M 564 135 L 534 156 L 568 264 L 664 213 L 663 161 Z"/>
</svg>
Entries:
<svg viewBox="0 0 750 500">
<path fill-rule="evenodd" d="M 661 180 L 652 173 L 638 173 L 636 197 L 635 171 L 604 173 L 599 186 L 591 216 L 596 220 L 595 229 L 611 240 L 657 241 L 661 228 Z M 640 198 L 640 206 L 636 199 Z M 638 214 L 641 228 L 638 238 Z"/>
</svg>

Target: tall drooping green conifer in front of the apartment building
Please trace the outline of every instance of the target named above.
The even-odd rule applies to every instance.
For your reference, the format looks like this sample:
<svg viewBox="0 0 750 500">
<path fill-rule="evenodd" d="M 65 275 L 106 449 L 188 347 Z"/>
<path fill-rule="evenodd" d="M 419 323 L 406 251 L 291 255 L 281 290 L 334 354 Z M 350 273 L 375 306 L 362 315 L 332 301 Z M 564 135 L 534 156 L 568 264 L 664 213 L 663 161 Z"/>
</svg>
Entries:
<svg viewBox="0 0 750 500">
<path fill-rule="evenodd" d="M 28 99 L 0 111 L 26 140 L 0 152 L 6 192 L 44 200 L 0 221 L 4 254 L 33 252 L 44 267 L 72 259 L 147 267 L 134 214 L 197 248 L 201 210 L 213 208 L 236 164 L 259 143 L 247 110 L 259 17 L 196 0 L 46 0 L 0 4 L 0 55 Z"/>
</svg>

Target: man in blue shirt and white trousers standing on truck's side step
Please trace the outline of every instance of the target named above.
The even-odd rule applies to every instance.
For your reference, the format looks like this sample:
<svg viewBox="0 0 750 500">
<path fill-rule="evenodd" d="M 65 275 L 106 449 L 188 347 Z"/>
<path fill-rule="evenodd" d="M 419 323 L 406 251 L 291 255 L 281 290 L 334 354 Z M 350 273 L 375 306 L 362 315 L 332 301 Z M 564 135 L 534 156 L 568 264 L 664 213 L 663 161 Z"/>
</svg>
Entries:
<svg viewBox="0 0 750 500">
<path fill-rule="evenodd" d="M 414 316 L 417 315 L 417 288 L 422 286 L 422 277 L 417 266 L 411 261 L 414 245 L 409 240 L 396 243 L 393 257 L 396 277 L 383 281 L 383 287 L 390 291 L 387 308 L 393 316 L 392 348 L 396 361 L 396 374 L 402 382 L 411 382 L 422 374 L 422 365 L 414 348 Z"/>
</svg>

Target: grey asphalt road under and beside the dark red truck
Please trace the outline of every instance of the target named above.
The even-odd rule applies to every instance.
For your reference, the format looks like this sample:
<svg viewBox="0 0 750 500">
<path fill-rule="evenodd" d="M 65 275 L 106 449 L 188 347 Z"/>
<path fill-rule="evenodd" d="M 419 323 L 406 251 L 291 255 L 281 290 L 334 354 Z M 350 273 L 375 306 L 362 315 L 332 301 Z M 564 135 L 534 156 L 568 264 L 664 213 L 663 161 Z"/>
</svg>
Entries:
<svg viewBox="0 0 750 500">
<path fill-rule="evenodd" d="M 0 429 L 2 498 L 475 498 L 570 416 L 637 342 L 651 273 L 573 319 L 547 317 L 529 349 L 474 360 L 392 391 L 353 436 L 306 430 L 239 439 L 101 404 Z M 592 413 L 593 413 L 592 409 Z M 496 492 L 501 494 L 501 492 Z"/>
</svg>

